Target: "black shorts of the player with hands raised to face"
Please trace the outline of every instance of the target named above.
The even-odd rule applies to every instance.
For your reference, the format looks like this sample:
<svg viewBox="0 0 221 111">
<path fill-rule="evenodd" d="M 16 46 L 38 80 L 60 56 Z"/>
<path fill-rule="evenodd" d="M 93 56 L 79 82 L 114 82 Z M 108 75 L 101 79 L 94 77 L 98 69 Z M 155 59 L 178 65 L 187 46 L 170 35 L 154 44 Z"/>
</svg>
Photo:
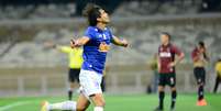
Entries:
<svg viewBox="0 0 221 111">
<path fill-rule="evenodd" d="M 206 70 L 203 67 L 195 67 L 194 74 L 198 85 L 206 82 Z"/>
</svg>

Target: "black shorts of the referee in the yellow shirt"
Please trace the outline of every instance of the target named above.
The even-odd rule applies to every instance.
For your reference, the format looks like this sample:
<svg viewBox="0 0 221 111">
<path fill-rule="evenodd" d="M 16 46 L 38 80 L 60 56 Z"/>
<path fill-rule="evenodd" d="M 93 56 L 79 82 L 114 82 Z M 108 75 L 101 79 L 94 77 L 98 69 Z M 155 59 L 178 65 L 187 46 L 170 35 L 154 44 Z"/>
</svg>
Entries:
<svg viewBox="0 0 221 111">
<path fill-rule="evenodd" d="M 69 82 L 75 82 L 75 81 L 79 82 L 80 68 L 79 69 L 70 68 L 68 74 L 69 74 L 68 75 Z"/>
</svg>

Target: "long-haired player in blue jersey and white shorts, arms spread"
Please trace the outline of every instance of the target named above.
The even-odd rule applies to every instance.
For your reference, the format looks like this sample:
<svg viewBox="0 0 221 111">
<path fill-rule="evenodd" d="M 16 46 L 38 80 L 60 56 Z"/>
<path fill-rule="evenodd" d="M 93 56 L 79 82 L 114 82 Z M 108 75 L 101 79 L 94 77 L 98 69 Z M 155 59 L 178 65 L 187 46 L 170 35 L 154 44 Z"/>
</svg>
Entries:
<svg viewBox="0 0 221 111">
<path fill-rule="evenodd" d="M 100 7 L 88 4 L 84 13 L 88 18 L 89 26 L 82 37 L 70 42 L 71 47 L 84 46 L 84 63 L 79 75 L 81 92 L 77 103 L 75 101 L 55 104 L 44 102 L 42 111 L 86 111 L 90 101 L 95 104 L 93 111 L 103 111 L 106 102 L 100 84 L 110 43 L 126 47 L 128 42 L 112 35 L 107 27 L 110 22 L 109 15 Z"/>
</svg>

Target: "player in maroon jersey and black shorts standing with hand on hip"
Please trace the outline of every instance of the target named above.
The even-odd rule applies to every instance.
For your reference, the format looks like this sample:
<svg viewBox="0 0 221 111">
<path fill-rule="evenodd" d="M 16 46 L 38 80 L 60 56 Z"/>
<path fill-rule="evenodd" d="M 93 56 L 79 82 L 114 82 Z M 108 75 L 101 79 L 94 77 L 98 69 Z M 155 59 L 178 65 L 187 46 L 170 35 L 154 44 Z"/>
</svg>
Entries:
<svg viewBox="0 0 221 111">
<path fill-rule="evenodd" d="M 163 32 L 161 34 L 161 42 L 162 45 L 158 47 L 159 106 L 155 109 L 155 111 L 164 110 L 164 89 L 166 85 L 168 85 L 172 90 L 170 111 L 174 111 L 177 97 L 175 66 L 184 58 L 185 54 L 180 49 L 178 49 L 177 46 L 170 43 L 170 35 L 168 33 Z M 176 55 L 178 56 L 177 59 L 175 59 Z"/>
</svg>

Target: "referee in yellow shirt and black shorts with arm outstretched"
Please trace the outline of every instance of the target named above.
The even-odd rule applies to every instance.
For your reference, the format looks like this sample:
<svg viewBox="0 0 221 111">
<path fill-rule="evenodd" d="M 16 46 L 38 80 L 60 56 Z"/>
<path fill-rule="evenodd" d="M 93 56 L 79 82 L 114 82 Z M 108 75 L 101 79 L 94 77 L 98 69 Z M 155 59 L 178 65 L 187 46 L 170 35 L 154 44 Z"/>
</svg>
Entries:
<svg viewBox="0 0 221 111">
<path fill-rule="evenodd" d="M 57 49 L 62 53 L 66 53 L 68 55 L 68 60 L 69 60 L 68 99 L 71 100 L 74 90 L 77 91 L 78 87 L 79 87 L 79 74 L 80 74 L 80 68 L 81 68 L 82 62 L 84 62 L 82 48 L 81 47 L 71 48 L 70 46 L 56 45 L 53 42 L 46 42 L 45 46 L 55 48 L 55 49 Z"/>
</svg>

